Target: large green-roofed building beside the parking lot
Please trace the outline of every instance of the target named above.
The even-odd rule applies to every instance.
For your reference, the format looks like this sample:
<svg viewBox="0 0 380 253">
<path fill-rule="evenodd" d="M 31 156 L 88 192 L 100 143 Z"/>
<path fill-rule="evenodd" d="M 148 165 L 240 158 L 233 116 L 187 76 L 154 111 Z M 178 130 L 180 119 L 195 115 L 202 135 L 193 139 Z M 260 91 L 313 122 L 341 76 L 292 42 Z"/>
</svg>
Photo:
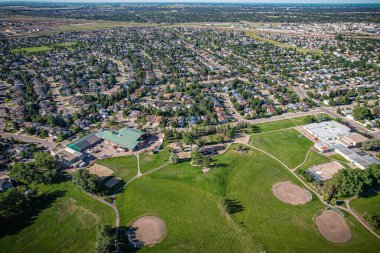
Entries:
<svg viewBox="0 0 380 253">
<path fill-rule="evenodd" d="M 105 139 L 121 148 L 136 150 L 142 147 L 145 133 L 134 128 L 123 128 L 119 131 L 104 130 L 96 136 Z"/>
</svg>

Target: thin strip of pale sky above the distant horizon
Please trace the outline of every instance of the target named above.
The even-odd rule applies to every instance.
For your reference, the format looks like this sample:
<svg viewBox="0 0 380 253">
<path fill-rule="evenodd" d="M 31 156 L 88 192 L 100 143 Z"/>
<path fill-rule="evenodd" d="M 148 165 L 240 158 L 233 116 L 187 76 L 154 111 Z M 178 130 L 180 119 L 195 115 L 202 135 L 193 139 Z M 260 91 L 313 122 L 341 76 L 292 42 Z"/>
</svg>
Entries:
<svg viewBox="0 0 380 253">
<path fill-rule="evenodd" d="M 0 0 L 0 2 L 8 1 L 23 1 L 23 2 L 100 2 L 100 3 L 112 3 L 112 2 L 181 2 L 181 3 L 308 3 L 308 4 L 352 4 L 352 3 L 375 3 L 380 4 L 380 0 Z"/>
</svg>

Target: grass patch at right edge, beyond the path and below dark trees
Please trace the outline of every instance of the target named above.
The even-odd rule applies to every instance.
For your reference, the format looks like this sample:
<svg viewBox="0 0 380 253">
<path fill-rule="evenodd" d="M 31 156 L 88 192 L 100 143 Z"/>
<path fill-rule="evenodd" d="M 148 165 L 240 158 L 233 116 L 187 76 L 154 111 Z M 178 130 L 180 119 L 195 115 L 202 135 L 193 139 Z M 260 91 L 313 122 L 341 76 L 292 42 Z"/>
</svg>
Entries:
<svg viewBox="0 0 380 253">
<path fill-rule="evenodd" d="M 351 208 L 356 210 L 360 215 L 370 214 L 380 217 L 380 194 L 379 189 L 374 195 L 368 197 L 360 197 L 350 202 Z M 380 228 L 375 230 L 380 234 Z"/>
</svg>

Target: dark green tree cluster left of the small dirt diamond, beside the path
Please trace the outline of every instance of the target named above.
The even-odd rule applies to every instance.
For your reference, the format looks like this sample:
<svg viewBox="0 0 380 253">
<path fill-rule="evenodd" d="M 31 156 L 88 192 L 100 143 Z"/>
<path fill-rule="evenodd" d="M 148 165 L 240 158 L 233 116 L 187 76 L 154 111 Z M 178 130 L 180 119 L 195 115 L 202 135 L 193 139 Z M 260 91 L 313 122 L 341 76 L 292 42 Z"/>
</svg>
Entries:
<svg viewBox="0 0 380 253">
<path fill-rule="evenodd" d="M 73 184 L 86 192 L 101 193 L 102 187 L 98 175 L 90 174 L 86 169 L 77 170 L 73 174 Z"/>
</svg>

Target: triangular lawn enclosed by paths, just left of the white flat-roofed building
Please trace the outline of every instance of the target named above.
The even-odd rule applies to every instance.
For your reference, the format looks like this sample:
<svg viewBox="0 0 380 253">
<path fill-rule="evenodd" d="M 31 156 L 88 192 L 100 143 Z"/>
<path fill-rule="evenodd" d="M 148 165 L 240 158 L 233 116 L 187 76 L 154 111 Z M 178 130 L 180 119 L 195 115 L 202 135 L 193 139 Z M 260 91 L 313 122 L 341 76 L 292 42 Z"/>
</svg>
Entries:
<svg viewBox="0 0 380 253">
<path fill-rule="evenodd" d="M 290 168 L 301 164 L 313 143 L 294 129 L 251 136 L 251 144 L 277 157 Z"/>
</svg>

